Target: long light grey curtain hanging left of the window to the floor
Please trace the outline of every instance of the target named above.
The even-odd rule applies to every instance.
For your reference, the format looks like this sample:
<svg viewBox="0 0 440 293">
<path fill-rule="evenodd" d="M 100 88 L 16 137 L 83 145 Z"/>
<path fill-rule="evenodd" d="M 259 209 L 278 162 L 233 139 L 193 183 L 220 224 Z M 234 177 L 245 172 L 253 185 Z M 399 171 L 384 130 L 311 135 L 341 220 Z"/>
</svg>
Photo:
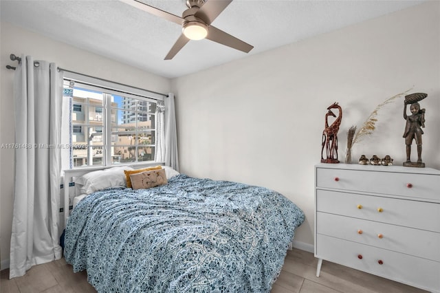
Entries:
<svg viewBox="0 0 440 293">
<path fill-rule="evenodd" d="M 14 79 L 15 182 L 10 278 L 32 265 L 61 259 L 61 95 L 54 63 L 22 56 Z"/>
</svg>

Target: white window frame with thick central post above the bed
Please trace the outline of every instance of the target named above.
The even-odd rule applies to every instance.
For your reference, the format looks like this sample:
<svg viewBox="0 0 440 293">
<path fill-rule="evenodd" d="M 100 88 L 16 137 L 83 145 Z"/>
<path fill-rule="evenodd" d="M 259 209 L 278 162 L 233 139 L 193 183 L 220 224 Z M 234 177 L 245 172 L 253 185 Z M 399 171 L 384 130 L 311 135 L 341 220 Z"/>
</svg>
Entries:
<svg viewBox="0 0 440 293">
<path fill-rule="evenodd" d="M 72 169 L 87 169 L 96 167 L 111 167 L 111 166 L 124 166 L 133 164 L 162 164 L 163 162 L 152 161 L 136 161 L 136 162 L 123 162 L 120 164 L 113 164 L 113 158 L 111 155 L 112 149 L 112 122 L 111 122 L 111 96 L 123 96 L 126 98 L 135 98 L 137 100 L 146 100 L 147 102 L 154 102 L 157 104 L 158 100 L 164 100 L 165 95 L 155 93 L 153 91 L 147 91 L 146 89 L 140 89 L 137 87 L 130 87 L 128 85 L 122 85 L 119 83 L 113 83 L 109 80 L 102 80 L 100 78 L 94 78 L 92 76 L 83 76 L 82 74 L 77 74 L 74 72 L 65 72 L 63 79 L 70 83 L 72 87 L 78 87 L 82 89 L 89 89 L 93 91 L 102 91 L 102 164 L 93 165 L 91 162 L 87 162 L 87 166 L 74 166 L 72 162 Z M 72 105 L 73 111 L 73 105 Z M 87 113 L 88 115 L 88 113 Z M 150 129 L 151 131 L 156 131 L 157 127 Z M 72 130 L 73 131 L 73 130 Z M 137 131 L 142 131 L 142 129 L 137 129 Z M 154 150 L 157 151 L 157 141 L 154 144 Z M 138 157 L 139 155 L 137 155 Z M 135 160 L 138 160 L 138 158 Z M 154 159 L 154 158 L 153 158 Z M 73 160 L 73 157 L 69 158 Z"/>
</svg>

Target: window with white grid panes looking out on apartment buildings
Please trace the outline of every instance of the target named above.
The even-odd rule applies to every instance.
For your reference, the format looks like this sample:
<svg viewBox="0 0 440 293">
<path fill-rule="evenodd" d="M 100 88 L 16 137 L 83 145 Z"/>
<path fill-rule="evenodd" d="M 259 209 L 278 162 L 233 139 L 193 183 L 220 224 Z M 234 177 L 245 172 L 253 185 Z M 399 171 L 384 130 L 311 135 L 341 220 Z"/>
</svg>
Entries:
<svg viewBox="0 0 440 293">
<path fill-rule="evenodd" d="M 157 100 L 80 82 L 70 93 L 69 166 L 154 161 Z"/>
</svg>

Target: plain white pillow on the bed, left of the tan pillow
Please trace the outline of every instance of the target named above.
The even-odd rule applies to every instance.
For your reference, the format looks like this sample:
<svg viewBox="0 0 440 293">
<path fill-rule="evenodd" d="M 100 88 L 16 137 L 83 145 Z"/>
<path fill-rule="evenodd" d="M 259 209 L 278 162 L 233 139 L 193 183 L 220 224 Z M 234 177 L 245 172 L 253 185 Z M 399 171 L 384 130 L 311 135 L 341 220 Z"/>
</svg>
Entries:
<svg viewBox="0 0 440 293">
<path fill-rule="evenodd" d="M 88 195 L 109 187 L 126 186 L 124 170 L 134 169 L 129 166 L 118 166 L 93 171 L 79 177 L 75 183 L 82 184 L 80 192 Z"/>
</svg>

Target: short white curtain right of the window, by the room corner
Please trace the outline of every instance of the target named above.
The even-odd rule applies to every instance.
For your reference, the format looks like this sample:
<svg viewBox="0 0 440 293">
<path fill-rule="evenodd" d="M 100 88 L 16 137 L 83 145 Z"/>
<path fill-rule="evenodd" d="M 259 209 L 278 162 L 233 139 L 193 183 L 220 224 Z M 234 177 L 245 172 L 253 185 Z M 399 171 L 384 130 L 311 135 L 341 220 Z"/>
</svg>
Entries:
<svg viewBox="0 0 440 293">
<path fill-rule="evenodd" d="M 165 164 L 179 171 L 174 94 L 165 98 Z"/>
</svg>

